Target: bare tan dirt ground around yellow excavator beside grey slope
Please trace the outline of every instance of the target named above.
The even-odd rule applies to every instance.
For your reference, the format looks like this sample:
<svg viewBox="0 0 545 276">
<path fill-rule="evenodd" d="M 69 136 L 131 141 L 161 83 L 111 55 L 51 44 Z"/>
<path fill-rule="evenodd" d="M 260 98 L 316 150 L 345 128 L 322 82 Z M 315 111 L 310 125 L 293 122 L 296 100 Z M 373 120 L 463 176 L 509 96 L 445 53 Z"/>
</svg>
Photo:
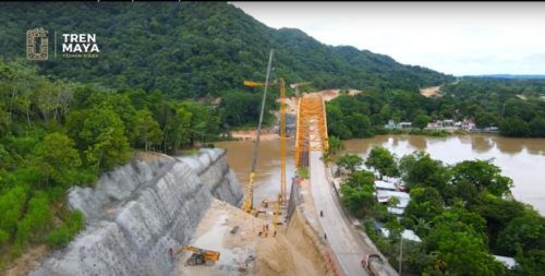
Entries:
<svg viewBox="0 0 545 276">
<path fill-rule="evenodd" d="M 270 215 L 268 215 L 270 216 Z M 293 221 L 293 220 L 292 220 Z M 185 266 L 190 253 L 179 255 L 174 275 L 327 275 L 324 260 L 300 223 L 278 226 L 276 237 L 259 237 L 266 220 L 214 200 L 191 245 L 220 252 L 213 266 Z M 233 227 L 239 226 L 235 233 Z M 255 261 L 247 262 L 250 256 Z"/>
</svg>

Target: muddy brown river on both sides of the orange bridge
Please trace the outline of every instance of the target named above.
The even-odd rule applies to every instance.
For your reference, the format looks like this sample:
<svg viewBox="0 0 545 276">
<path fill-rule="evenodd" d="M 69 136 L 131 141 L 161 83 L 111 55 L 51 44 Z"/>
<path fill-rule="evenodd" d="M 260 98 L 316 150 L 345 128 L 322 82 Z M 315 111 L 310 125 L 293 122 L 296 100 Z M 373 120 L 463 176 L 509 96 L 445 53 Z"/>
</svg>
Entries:
<svg viewBox="0 0 545 276">
<path fill-rule="evenodd" d="M 249 181 L 254 143 L 252 141 L 230 141 L 215 143 L 226 148 L 229 165 L 239 181 Z M 366 157 L 371 148 L 382 145 L 398 157 L 413 151 L 425 151 L 432 158 L 448 165 L 462 160 L 491 159 L 502 175 L 513 180 L 513 196 L 533 205 L 545 215 L 545 139 L 510 139 L 495 135 L 453 135 L 431 137 L 420 135 L 378 135 L 372 139 L 344 141 L 346 152 Z M 293 139 L 288 140 L 287 182 L 294 175 Z M 280 191 L 280 141 L 259 143 L 254 204 L 265 199 L 274 200 Z"/>
</svg>

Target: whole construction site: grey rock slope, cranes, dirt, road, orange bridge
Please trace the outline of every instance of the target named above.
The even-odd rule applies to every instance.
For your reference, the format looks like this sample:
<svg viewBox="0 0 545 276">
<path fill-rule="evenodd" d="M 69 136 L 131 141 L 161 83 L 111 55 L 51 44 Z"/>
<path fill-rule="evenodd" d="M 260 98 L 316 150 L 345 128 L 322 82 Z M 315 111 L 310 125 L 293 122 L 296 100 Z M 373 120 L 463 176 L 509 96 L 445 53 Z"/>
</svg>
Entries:
<svg viewBox="0 0 545 276">
<path fill-rule="evenodd" d="M 28 267 L 31 275 L 397 275 L 340 206 L 322 158 L 328 148 L 325 100 L 339 91 L 301 93 L 306 83 L 292 84 L 295 96 L 287 100 L 284 81 L 270 74 L 272 56 L 265 82 L 244 81 L 263 87 L 263 100 L 253 148 L 244 149 L 252 159 L 242 183 L 226 149 L 135 159 L 102 175 L 94 188 L 70 191 L 70 206 L 85 214 L 88 226 Z M 256 185 L 264 178 L 257 164 L 266 95 L 276 88 L 278 131 L 268 134 L 277 139 L 266 142 L 278 143 L 280 164 L 267 166 L 280 173 Z"/>
</svg>

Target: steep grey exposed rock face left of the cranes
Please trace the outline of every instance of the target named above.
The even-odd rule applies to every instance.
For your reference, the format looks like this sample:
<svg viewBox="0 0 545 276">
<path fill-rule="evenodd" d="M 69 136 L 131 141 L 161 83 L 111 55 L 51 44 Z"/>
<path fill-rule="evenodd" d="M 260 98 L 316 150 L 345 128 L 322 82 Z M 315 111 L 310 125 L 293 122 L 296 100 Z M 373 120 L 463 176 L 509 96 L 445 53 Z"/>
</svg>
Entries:
<svg viewBox="0 0 545 276">
<path fill-rule="evenodd" d="M 74 188 L 69 204 L 87 228 L 32 275 L 169 275 L 169 248 L 185 244 L 211 197 L 239 206 L 243 192 L 223 149 L 134 161 Z"/>
</svg>

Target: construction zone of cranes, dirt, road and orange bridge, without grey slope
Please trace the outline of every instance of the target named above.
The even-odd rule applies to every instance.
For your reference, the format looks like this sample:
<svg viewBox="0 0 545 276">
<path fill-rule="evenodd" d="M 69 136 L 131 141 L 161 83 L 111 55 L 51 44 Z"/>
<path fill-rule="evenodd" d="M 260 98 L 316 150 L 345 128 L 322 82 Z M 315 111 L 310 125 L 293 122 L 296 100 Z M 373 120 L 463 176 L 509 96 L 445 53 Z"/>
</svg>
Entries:
<svg viewBox="0 0 545 276">
<path fill-rule="evenodd" d="M 272 51 L 265 83 L 244 81 L 246 86 L 264 87 L 264 95 L 257 130 L 239 137 L 254 141 L 251 169 L 244 178 L 247 182 L 243 181 L 243 204 L 237 208 L 217 200 L 211 203 L 190 242 L 199 252 L 183 247 L 173 250 L 178 259 L 174 275 L 397 275 L 343 213 L 322 160 L 328 147 L 325 101 L 339 91 L 300 93 L 299 86 L 307 84 L 300 83 L 291 85 L 295 97 L 286 98 L 283 80 L 269 80 L 271 59 Z M 279 130 L 267 131 L 266 140 L 277 135 L 272 143 L 280 144 L 280 176 L 256 187 L 263 106 L 270 86 L 280 91 Z M 287 115 L 296 118 L 293 131 L 287 131 Z M 294 147 L 291 151 L 288 139 Z M 290 171 L 293 177 L 287 179 L 287 158 L 293 160 L 290 169 L 304 168 L 310 176 Z M 196 255 L 206 259 L 206 254 L 216 259 L 207 264 L 203 261 L 204 265 L 192 263 Z"/>
</svg>

